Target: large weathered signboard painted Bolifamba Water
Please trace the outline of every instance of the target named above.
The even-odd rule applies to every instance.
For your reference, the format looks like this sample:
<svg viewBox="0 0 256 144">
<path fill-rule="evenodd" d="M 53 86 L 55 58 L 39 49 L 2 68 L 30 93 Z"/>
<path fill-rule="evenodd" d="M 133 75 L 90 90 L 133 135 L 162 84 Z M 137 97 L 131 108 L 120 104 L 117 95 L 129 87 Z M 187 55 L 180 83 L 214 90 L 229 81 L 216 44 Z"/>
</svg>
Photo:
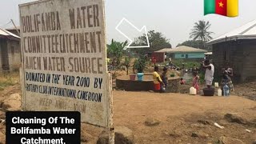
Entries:
<svg viewBox="0 0 256 144">
<path fill-rule="evenodd" d="M 82 122 L 108 126 L 103 0 L 41 0 L 19 10 L 23 110 L 80 111 Z"/>
</svg>

